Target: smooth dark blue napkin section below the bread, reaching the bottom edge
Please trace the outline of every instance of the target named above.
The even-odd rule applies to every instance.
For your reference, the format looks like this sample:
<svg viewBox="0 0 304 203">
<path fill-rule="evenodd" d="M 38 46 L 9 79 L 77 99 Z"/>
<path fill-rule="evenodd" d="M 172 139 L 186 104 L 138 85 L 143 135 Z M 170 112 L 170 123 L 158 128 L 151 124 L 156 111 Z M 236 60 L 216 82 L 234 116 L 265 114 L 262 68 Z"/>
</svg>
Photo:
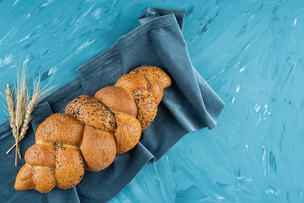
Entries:
<svg viewBox="0 0 304 203">
<path fill-rule="evenodd" d="M 117 154 L 114 162 L 98 172 L 85 171 L 76 186 L 81 202 L 107 202 L 118 194 L 154 156 L 139 142 L 129 152 Z"/>
</svg>

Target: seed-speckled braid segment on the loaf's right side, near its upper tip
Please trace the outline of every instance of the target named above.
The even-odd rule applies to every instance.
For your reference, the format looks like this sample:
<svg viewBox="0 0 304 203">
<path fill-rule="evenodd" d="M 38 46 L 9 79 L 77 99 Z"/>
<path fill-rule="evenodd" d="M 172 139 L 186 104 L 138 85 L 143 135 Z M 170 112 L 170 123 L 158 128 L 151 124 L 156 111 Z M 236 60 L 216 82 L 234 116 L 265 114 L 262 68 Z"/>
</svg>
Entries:
<svg viewBox="0 0 304 203">
<path fill-rule="evenodd" d="M 132 94 L 138 107 L 137 119 L 141 125 L 141 129 L 145 130 L 156 116 L 157 104 L 152 93 L 146 90 L 136 89 L 132 91 Z"/>
</svg>

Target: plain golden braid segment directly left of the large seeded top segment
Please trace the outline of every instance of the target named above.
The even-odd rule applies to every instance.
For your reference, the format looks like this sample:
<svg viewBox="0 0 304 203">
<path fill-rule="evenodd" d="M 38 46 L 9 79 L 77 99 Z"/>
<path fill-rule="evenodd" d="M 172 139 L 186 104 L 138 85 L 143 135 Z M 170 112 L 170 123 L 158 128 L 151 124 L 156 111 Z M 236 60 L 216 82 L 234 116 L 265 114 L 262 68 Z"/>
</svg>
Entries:
<svg viewBox="0 0 304 203">
<path fill-rule="evenodd" d="M 66 114 L 52 114 L 37 128 L 36 142 L 61 142 L 79 145 L 84 134 L 84 124 Z"/>
</svg>

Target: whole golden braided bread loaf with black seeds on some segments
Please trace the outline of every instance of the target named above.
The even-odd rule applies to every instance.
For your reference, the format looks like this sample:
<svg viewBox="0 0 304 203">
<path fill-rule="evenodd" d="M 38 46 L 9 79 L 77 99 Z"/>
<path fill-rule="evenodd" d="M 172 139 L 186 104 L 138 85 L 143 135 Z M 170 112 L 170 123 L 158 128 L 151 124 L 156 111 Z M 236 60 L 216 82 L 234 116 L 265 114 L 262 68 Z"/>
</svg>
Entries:
<svg viewBox="0 0 304 203">
<path fill-rule="evenodd" d="M 156 116 L 163 89 L 170 85 L 162 69 L 139 67 L 94 97 L 81 95 L 71 101 L 63 114 L 55 113 L 38 126 L 15 189 L 67 189 L 82 180 L 84 170 L 107 168 L 117 153 L 135 147 Z"/>
</svg>

